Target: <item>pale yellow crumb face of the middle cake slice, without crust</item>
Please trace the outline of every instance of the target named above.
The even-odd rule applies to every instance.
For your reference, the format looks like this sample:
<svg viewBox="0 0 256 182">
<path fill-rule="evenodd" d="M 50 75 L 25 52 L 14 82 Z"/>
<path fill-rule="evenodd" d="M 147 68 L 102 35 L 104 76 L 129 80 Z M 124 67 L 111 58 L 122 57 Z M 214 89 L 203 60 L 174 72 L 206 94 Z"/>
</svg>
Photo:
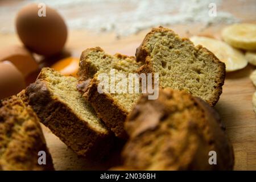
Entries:
<svg viewBox="0 0 256 182">
<path fill-rule="evenodd" d="M 97 76 L 101 73 L 106 73 L 109 76 L 110 83 L 110 70 L 114 69 L 115 75 L 119 73 L 125 74 L 128 78 L 129 73 L 135 73 L 142 63 L 137 63 L 135 57 L 125 56 L 119 53 L 115 55 L 106 54 L 100 47 L 86 49 L 81 56 L 80 60 L 80 80 L 86 80 L 88 78 L 94 78 L 97 80 Z M 118 82 L 121 78 L 115 77 L 115 88 L 117 88 Z M 127 79 L 128 81 L 128 79 Z M 133 82 L 134 84 L 134 82 Z M 109 87 L 110 89 L 110 87 Z M 108 90 L 110 92 L 110 90 Z M 140 94 L 128 93 L 128 86 L 126 93 L 106 93 L 106 96 L 112 97 L 116 101 L 116 104 L 123 110 L 129 112 L 131 107 L 138 100 Z"/>
</svg>

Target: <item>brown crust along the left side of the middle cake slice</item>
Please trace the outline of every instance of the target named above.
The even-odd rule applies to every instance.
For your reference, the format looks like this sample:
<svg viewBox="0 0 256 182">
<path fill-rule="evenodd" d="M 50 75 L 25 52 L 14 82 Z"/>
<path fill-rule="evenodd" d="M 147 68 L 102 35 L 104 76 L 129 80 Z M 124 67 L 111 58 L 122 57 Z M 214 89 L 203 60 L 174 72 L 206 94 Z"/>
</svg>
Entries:
<svg viewBox="0 0 256 182">
<path fill-rule="evenodd" d="M 123 123 L 125 122 L 128 111 L 119 106 L 108 94 L 98 93 L 98 81 L 94 77 L 94 73 L 89 70 L 89 65 L 84 61 L 88 59 L 90 51 L 104 52 L 100 47 L 88 48 L 82 52 L 77 89 L 83 93 L 83 96 L 93 106 L 98 117 L 100 117 L 105 125 L 114 132 L 115 136 L 121 139 L 127 139 L 127 133 L 123 129 Z M 134 56 L 121 55 L 120 53 L 116 53 L 114 56 L 119 59 L 135 59 Z"/>
</svg>

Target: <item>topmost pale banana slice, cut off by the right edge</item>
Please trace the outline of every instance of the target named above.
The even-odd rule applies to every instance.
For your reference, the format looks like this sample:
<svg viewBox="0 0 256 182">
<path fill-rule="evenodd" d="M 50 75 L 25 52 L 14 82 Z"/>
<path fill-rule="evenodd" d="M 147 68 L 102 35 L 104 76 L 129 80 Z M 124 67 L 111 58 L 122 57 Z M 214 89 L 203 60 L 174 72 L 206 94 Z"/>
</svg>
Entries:
<svg viewBox="0 0 256 182">
<path fill-rule="evenodd" d="M 233 47 L 256 50 L 256 24 L 233 24 L 222 30 L 222 38 Z"/>
</svg>

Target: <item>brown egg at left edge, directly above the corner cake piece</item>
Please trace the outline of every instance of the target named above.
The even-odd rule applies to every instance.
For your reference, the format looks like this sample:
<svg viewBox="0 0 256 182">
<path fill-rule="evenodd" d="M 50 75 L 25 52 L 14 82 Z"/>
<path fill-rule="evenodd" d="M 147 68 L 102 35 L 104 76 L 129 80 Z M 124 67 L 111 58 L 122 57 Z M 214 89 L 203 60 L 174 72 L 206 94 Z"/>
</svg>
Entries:
<svg viewBox="0 0 256 182">
<path fill-rule="evenodd" d="M 10 61 L 0 63 L 0 99 L 13 96 L 25 88 L 22 73 Z"/>
</svg>

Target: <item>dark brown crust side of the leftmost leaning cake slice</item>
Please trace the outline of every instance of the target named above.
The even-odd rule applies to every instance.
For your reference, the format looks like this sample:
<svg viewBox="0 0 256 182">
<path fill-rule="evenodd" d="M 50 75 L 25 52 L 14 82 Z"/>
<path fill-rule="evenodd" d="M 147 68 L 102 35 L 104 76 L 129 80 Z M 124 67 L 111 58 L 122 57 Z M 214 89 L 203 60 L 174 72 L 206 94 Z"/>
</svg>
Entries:
<svg viewBox="0 0 256 182">
<path fill-rule="evenodd" d="M 73 113 L 64 102 L 53 98 L 47 82 L 36 80 L 26 89 L 28 104 L 45 126 L 78 155 L 101 159 L 112 146 L 111 133 L 100 133 Z"/>
</svg>

